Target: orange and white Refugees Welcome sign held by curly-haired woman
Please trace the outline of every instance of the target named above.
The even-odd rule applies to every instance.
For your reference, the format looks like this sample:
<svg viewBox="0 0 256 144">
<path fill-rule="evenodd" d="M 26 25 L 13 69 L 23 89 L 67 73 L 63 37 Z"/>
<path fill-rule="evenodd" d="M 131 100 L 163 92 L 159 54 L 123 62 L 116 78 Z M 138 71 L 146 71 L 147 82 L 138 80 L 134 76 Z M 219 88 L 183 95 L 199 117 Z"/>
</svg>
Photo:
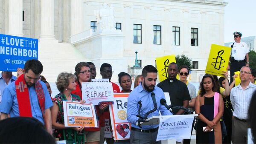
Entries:
<svg viewBox="0 0 256 144">
<path fill-rule="evenodd" d="M 63 101 L 65 127 L 98 127 L 93 104 Z"/>
</svg>

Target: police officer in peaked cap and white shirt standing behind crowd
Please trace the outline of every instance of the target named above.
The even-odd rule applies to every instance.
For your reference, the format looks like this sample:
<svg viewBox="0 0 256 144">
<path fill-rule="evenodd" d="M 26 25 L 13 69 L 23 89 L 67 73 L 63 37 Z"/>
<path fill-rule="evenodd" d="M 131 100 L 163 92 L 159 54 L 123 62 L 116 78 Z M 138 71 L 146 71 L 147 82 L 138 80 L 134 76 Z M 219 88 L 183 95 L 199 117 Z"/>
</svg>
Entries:
<svg viewBox="0 0 256 144">
<path fill-rule="evenodd" d="M 234 43 L 230 43 L 231 57 L 230 57 L 230 76 L 232 77 L 236 71 L 239 71 L 242 66 L 249 66 L 249 48 L 247 43 L 241 41 L 241 32 L 234 32 Z M 232 83 L 233 79 L 230 78 Z"/>
</svg>

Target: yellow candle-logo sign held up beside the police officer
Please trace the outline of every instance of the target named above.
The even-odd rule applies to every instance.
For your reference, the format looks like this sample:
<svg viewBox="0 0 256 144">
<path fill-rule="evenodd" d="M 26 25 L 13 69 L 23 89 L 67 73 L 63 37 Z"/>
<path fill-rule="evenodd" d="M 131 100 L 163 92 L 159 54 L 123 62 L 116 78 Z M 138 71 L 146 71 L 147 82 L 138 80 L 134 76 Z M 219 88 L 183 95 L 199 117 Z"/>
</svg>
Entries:
<svg viewBox="0 0 256 144">
<path fill-rule="evenodd" d="M 231 48 L 212 44 L 205 73 L 223 77 L 222 71 L 227 71 Z"/>
</svg>

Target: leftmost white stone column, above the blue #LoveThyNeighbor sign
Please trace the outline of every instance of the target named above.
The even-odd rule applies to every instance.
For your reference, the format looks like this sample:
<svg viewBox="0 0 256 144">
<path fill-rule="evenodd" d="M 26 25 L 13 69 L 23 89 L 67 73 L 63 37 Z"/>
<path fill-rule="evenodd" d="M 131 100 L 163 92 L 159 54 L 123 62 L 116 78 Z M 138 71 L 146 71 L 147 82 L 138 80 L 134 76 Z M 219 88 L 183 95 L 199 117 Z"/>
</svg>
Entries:
<svg viewBox="0 0 256 144">
<path fill-rule="evenodd" d="M 22 9 L 23 9 L 23 0 L 9 0 L 8 35 L 23 37 Z"/>
</svg>

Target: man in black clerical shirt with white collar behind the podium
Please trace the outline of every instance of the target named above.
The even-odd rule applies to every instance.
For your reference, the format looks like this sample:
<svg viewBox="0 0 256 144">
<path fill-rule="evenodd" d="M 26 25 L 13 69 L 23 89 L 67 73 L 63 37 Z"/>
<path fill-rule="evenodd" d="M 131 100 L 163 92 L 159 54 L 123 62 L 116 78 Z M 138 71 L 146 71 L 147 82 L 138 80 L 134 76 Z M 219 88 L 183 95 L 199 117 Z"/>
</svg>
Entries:
<svg viewBox="0 0 256 144">
<path fill-rule="evenodd" d="M 186 84 L 177 80 L 178 66 L 176 63 L 170 63 L 168 66 L 168 78 L 157 84 L 163 92 L 169 92 L 171 104 L 173 106 L 189 107 L 189 101 L 191 100 L 189 95 L 189 89 Z M 173 109 L 173 114 L 182 115 L 183 109 Z"/>
</svg>

